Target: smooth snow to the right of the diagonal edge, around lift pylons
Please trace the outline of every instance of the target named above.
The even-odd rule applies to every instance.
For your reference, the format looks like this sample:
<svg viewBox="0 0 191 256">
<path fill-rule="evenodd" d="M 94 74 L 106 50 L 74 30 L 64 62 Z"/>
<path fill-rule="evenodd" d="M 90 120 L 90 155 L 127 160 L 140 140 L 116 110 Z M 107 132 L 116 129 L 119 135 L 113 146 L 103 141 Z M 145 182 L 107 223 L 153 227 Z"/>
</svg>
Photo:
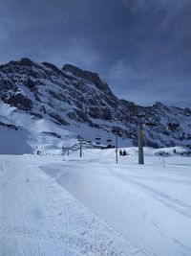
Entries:
<svg viewBox="0 0 191 256">
<path fill-rule="evenodd" d="M 95 154 L 42 169 L 147 255 L 190 256 L 191 158 Z"/>
</svg>

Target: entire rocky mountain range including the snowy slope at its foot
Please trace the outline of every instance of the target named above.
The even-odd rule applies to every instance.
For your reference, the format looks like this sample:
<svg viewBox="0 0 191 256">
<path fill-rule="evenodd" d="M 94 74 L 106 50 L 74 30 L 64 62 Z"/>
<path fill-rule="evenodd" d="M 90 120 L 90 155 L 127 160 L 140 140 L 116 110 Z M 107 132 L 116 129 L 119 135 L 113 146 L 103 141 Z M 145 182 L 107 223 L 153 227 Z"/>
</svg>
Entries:
<svg viewBox="0 0 191 256">
<path fill-rule="evenodd" d="M 138 120 L 132 111 L 144 111 L 144 122 L 156 125 L 144 127 L 145 146 L 191 148 L 189 108 L 119 100 L 96 73 L 70 64 L 59 69 L 22 58 L 1 65 L 0 98 L 1 153 L 10 152 L 11 145 L 18 153 L 58 150 L 74 144 L 77 135 L 92 141 L 100 137 L 106 144 L 114 140 L 113 127 L 119 130 L 119 146 L 137 146 Z"/>
</svg>

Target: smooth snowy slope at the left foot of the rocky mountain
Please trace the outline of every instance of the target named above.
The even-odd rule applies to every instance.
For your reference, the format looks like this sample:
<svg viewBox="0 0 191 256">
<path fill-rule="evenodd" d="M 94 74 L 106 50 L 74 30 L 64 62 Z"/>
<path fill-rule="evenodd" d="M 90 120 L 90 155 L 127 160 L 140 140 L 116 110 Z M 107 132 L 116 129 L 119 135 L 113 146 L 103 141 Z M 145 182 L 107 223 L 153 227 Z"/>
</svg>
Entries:
<svg viewBox="0 0 191 256">
<path fill-rule="evenodd" d="M 36 119 L 15 107 L 0 103 L 0 153 L 20 154 L 42 151 L 61 153 L 63 146 L 74 145 L 76 135 L 49 119 Z"/>
</svg>

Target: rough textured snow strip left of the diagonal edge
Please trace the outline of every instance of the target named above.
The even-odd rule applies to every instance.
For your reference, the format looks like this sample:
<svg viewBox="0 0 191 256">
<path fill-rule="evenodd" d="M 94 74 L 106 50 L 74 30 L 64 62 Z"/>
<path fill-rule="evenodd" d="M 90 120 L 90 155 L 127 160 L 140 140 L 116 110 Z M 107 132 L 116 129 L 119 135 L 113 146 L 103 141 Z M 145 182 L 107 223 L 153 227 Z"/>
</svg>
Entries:
<svg viewBox="0 0 191 256">
<path fill-rule="evenodd" d="M 39 165 L 60 157 L 0 156 L 0 255 L 145 255 Z"/>
</svg>

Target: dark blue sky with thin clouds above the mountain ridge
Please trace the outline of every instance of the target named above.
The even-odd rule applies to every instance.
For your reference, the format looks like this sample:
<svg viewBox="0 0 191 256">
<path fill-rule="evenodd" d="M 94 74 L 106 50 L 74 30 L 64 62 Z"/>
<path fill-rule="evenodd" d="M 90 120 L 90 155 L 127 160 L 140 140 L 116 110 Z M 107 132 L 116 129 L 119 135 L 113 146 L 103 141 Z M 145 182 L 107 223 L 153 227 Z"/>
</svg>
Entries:
<svg viewBox="0 0 191 256">
<path fill-rule="evenodd" d="M 0 63 L 72 63 L 140 105 L 191 102 L 190 13 L 190 0 L 1 0 Z"/>
</svg>

